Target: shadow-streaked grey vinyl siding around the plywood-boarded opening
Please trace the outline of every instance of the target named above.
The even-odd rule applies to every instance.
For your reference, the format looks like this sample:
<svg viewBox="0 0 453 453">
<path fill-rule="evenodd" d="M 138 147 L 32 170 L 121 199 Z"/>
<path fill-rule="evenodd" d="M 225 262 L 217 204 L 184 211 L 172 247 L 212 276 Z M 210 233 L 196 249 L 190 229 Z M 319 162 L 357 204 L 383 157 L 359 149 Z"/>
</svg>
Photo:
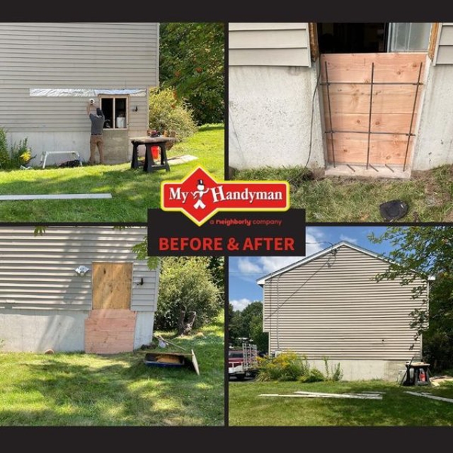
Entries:
<svg viewBox="0 0 453 453">
<path fill-rule="evenodd" d="M 94 261 L 132 262 L 134 311 L 155 311 L 159 272 L 137 260 L 131 248 L 145 227 L 49 226 L 35 236 L 33 226 L 0 228 L 0 309 L 91 309 L 91 272 L 75 268 Z M 141 277 L 144 285 L 137 285 Z"/>
</svg>

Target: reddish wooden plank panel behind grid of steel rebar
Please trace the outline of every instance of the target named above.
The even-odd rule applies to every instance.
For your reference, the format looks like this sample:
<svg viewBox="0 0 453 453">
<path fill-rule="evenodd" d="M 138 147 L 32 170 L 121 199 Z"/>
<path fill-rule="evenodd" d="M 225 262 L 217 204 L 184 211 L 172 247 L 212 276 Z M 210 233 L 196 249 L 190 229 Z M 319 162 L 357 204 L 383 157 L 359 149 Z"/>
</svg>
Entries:
<svg viewBox="0 0 453 453">
<path fill-rule="evenodd" d="M 413 150 L 425 53 L 321 55 L 329 164 L 396 166 Z"/>
</svg>

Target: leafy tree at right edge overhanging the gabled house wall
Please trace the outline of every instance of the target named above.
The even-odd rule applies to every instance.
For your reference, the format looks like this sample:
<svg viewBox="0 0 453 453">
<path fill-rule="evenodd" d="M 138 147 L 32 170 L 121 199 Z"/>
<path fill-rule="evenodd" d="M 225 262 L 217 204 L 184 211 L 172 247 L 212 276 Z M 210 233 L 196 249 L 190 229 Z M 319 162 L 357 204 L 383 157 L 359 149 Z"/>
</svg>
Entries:
<svg viewBox="0 0 453 453">
<path fill-rule="evenodd" d="M 374 243 L 390 241 L 394 246 L 389 258 L 394 260 L 389 269 L 377 280 L 401 278 L 408 285 L 415 278 L 425 281 L 430 275 L 428 309 L 415 309 L 411 326 L 418 334 L 423 332 L 425 360 L 445 369 L 453 366 L 453 226 L 393 226 L 382 236 L 369 238 Z M 414 273 L 415 271 L 415 273 Z M 423 297 L 427 283 L 413 289 L 413 298 Z M 429 315 L 429 316 L 428 316 Z M 429 317 L 428 330 L 425 328 Z"/>
</svg>

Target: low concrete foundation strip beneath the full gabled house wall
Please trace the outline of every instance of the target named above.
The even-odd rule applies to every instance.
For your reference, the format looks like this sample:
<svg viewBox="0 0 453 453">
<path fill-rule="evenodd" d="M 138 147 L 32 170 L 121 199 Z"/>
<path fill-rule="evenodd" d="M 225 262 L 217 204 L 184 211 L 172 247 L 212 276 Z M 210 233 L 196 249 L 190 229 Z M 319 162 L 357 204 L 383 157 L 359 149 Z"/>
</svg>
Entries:
<svg viewBox="0 0 453 453">
<path fill-rule="evenodd" d="M 343 381 L 384 379 L 396 382 L 398 372 L 406 369 L 401 360 L 329 360 L 329 370 L 335 369 L 338 363 L 343 371 Z M 326 374 L 323 360 L 309 360 L 309 364 Z"/>
</svg>

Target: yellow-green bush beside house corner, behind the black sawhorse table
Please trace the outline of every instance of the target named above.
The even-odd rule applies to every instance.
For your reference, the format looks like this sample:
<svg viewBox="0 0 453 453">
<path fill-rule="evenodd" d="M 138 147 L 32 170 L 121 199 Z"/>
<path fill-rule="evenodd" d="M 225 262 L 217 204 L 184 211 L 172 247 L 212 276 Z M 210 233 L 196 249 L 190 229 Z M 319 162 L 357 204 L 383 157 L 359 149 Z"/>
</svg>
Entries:
<svg viewBox="0 0 453 453">
<path fill-rule="evenodd" d="M 175 133 L 183 140 L 197 132 L 190 107 L 176 98 L 173 88 L 155 88 L 149 93 L 149 128 Z"/>
</svg>

